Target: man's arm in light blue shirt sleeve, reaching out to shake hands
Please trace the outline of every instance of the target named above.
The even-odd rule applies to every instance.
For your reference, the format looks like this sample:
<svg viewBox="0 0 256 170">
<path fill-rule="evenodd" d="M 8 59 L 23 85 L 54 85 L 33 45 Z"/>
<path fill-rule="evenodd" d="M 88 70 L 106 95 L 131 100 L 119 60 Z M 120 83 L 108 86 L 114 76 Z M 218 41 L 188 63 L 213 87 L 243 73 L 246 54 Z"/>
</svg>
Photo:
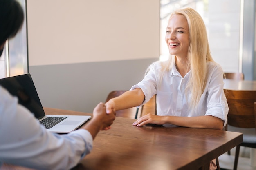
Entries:
<svg viewBox="0 0 256 170">
<path fill-rule="evenodd" d="M 47 131 L 16 97 L 2 88 L 0 95 L 0 165 L 5 162 L 39 170 L 71 169 L 90 153 L 97 132 L 115 119 L 99 104 L 82 129 L 58 135 Z"/>
</svg>

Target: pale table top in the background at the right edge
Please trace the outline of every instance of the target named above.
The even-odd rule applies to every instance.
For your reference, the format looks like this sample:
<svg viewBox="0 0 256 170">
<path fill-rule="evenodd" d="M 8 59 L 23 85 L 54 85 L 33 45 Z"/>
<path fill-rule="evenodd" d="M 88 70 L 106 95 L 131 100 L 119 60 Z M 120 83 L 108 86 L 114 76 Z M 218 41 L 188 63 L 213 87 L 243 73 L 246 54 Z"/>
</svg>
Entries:
<svg viewBox="0 0 256 170">
<path fill-rule="evenodd" d="M 223 79 L 224 89 L 226 90 L 241 90 L 241 91 L 256 91 L 256 81 L 252 80 L 232 80 Z"/>
</svg>

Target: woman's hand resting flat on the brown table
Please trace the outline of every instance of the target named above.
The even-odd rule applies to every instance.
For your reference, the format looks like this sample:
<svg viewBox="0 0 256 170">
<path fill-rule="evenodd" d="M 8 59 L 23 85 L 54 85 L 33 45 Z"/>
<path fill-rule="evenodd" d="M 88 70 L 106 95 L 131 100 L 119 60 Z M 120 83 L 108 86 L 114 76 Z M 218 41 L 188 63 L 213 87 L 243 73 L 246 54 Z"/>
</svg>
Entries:
<svg viewBox="0 0 256 170">
<path fill-rule="evenodd" d="M 166 124 L 164 118 L 165 118 L 165 116 L 157 116 L 157 115 L 148 113 L 147 115 L 140 117 L 132 125 L 134 125 L 134 126 L 143 126 L 145 124 L 162 125 L 162 124 Z"/>
</svg>

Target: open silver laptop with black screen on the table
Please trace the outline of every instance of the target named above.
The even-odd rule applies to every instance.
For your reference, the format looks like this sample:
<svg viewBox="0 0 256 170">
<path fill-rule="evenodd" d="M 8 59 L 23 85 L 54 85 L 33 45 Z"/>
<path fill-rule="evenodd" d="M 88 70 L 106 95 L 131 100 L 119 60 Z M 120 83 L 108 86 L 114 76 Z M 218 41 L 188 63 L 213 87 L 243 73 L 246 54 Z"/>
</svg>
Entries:
<svg viewBox="0 0 256 170">
<path fill-rule="evenodd" d="M 18 97 L 19 104 L 30 110 L 50 132 L 72 132 L 91 118 L 91 116 L 87 115 L 45 115 L 36 87 L 29 73 L 2 78 L 0 79 L 0 86 L 7 89 L 11 95 Z M 56 121 L 56 123 L 52 123 L 52 121 Z M 50 122 L 52 125 L 49 125 Z"/>
</svg>

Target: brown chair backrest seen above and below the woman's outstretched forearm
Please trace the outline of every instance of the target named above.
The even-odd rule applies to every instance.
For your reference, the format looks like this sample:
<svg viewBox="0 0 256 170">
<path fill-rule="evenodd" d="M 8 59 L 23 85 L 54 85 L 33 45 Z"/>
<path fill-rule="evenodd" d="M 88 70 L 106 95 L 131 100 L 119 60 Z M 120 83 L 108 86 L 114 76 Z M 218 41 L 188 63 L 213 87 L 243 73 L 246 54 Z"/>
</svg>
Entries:
<svg viewBox="0 0 256 170">
<path fill-rule="evenodd" d="M 108 94 L 108 97 L 106 98 L 106 102 L 108 102 L 110 99 L 112 99 L 114 97 L 120 96 L 121 94 L 123 94 L 126 91 L 128 91 L 128 90 L 111 91 Z M 118 111 L 116 111 L 116 113 L 117 113 L 116 116 L 134 119 L 136 112 L 137 112 L 137 107 L 128 108 L 128 109 L 124 109 L 124 110 L 118 110 Z"/>
</svg>

